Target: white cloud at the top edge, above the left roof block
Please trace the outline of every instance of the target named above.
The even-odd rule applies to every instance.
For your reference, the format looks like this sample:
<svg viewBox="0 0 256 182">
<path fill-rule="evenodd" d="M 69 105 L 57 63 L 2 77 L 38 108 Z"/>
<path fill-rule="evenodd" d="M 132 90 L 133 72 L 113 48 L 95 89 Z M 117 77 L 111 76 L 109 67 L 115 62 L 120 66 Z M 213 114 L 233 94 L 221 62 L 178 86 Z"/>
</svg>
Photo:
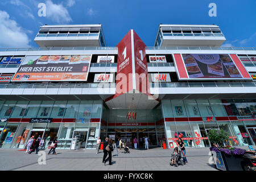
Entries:
<svg viewBox="0 0 256 182">
<path fill-rule="evenodd" d="M 46 17 L 57 23 L 72 22 L 68 10 L 62 4 L 55 4 L 51 0 L 46 1 Z"/>
</svg>

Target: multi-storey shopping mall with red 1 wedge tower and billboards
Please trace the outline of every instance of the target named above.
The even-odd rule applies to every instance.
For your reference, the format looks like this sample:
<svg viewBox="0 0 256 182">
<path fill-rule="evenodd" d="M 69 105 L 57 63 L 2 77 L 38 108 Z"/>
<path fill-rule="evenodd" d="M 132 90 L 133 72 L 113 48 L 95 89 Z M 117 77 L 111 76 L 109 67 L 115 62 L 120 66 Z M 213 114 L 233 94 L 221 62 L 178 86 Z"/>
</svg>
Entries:
<svg viewBox="0 0 256 182">
<path fill-rule="evenodd" d="M 46 25 L 39 47 L 0 48 L 0 147 L 39 135 L 68 150 L 106 136 L 209 147 L 213 129 L 255 145 L 256 48 L 221 47 L 216 25 L 160 24 L 154 47 L 124 35 L 106 47 L 101 24 Z"/>
</svg>

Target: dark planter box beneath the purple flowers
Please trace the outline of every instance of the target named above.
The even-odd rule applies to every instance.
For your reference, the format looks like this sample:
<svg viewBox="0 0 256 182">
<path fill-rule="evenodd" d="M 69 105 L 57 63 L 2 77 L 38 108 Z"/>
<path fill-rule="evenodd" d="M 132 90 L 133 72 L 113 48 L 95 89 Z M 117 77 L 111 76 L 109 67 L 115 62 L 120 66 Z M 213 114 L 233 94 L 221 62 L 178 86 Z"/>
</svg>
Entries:
<svg viewBox="0 0 256 182">
<path fill-rule="evenodd" d="M 226 171 L 243 171 L 243 158 L 242 155 L 228 155 L 221 152 Z"/>
</svg>

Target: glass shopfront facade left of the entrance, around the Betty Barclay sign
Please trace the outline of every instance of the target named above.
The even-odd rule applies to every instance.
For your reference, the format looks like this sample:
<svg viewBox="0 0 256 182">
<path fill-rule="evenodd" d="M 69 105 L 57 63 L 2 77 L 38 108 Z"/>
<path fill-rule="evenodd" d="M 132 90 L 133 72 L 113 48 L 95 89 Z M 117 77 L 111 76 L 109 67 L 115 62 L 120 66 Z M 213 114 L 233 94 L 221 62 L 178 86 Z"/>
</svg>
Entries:
<svg viewBox="0 0 256 182">
<path fill-rule="evenodd" d="M 102 101 L 0 101 L 0 148 L 24 148 L 34 136 L 46 139 L 48 147 L 54 137 L 58 148 L 70 149 L 73 137 L 83 131 L 80 148 L 95 148 L 100 137 Z M 49 123 L 32 123 L 31 118 L 52 119 Z"/>
</svg>

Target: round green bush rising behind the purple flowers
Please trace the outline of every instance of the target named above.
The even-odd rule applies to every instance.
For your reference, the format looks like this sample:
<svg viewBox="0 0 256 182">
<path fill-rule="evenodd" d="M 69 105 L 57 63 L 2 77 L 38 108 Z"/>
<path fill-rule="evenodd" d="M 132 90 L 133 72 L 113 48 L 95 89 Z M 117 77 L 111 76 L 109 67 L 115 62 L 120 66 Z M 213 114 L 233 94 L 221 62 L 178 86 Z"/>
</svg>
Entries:
<svg viewBox="0 0 256 182">
<path fill-rule="evenodd" d="M 223 144 L 229 139 L 228 133 L 224 130 L 210 130 L 208 138 L 211 143 Z"/>
</svg>

